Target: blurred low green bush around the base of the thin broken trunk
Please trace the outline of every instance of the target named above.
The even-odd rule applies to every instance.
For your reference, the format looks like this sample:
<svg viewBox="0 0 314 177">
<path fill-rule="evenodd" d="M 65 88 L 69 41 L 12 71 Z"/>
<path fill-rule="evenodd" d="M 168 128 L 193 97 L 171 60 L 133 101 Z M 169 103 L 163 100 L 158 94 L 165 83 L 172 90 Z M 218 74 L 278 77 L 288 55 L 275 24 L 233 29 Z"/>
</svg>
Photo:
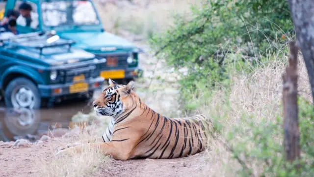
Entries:
<svg viewBox="0 0 314 177">
<path fill-rule="evenodd" d="M 314 109 L 313 105 L 299 98 L 299 128 L 301 159 L 293 164 L 285 160 L 283 146 L 282 118 L 277 116 L 273 122 L 248 123 L 247 133 L 243 127 L 235 127 L 229 132 L 228 141 L 233 144 L 234 158 L 245 164 L 254 162 L 263 169 L 262 176 L 268 177 L 311 177 L 314 174 Z M 235 140 L 235 136 L 243 137 Z M 296 168 L 296 164 L 300 167 Z M 249 166 L 249 165 L 248 165 Z M 252 170 L 241 170 L 240 176 L 248 177 Z"/>
</svg>

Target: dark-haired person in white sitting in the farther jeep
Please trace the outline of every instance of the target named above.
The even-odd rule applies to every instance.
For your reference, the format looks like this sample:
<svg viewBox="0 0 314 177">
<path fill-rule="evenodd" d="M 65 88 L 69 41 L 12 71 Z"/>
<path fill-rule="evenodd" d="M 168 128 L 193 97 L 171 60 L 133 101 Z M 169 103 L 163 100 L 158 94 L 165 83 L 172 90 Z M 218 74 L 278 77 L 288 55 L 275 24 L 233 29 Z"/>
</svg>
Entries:
<svg viewBox="0 0 314 177">
<path fill-rule="evenodd" d="M 32 7 L 29 3 L 23 2 L 19 6 L 20 16 L 16 20 L 16 23 L 23 27 L 30 27 L 37 29 L 38 27 L 38 14 L 32 12 Z"/>
</svg>

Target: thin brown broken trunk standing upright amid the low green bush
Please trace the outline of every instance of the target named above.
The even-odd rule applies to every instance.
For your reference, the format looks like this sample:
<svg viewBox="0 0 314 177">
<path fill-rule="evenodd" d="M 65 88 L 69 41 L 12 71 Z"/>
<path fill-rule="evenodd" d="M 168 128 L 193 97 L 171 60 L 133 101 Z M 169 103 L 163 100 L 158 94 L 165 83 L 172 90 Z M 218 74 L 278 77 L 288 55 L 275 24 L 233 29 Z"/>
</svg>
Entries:
<svg viewBox="0 0 314 177">
<path fill-rule="evenodd" d="M 298 47 L 290 42 L 289 65 L 283 74 L 284 146 L 286 160 L 300 157 L 300 132 L 298 123 L 297 81 Z"/>
</svg>

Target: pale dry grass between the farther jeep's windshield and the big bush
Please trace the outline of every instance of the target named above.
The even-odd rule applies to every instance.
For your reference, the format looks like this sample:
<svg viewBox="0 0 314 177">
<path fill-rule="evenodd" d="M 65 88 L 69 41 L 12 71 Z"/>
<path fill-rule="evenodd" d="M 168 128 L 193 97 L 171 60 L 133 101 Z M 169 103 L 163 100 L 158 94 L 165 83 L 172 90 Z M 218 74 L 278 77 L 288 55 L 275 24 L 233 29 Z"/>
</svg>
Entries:
<svg viewBox="0 0 314 177">
<path fill-rule="evenodd" d="M 190 5 L 201 0 L 95 0 L 104 28 L 121 35 L 129 33 L 141 39 L 160 32 L 173 24 L 173 15 L 189 17 Z M 127 35 L 127 34 L 125 34 Z"/>
</svg>

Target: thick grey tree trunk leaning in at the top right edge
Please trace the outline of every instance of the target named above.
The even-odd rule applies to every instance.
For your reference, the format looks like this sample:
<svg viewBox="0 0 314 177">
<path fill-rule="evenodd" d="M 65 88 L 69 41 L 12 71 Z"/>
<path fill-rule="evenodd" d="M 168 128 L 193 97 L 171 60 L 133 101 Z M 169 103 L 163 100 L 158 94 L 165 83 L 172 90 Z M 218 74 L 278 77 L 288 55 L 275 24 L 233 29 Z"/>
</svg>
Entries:
<svg viewBox="0 0 314 177">
<path fill-rule="evenodd" d="M 314 0 L 288 0 L 288 3 L 314 99 Z"/>
</svg>

